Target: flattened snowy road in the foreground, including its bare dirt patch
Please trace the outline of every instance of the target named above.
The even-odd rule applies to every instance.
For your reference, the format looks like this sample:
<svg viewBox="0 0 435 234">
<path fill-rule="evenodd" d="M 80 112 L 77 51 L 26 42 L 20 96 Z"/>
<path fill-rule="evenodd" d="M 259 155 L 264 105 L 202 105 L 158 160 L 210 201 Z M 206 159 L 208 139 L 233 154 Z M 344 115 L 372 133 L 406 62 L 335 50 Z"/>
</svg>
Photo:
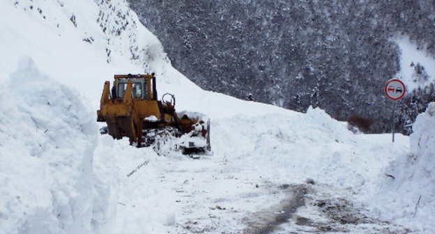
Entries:
<svg viewBox="0 0 435 234">
<path fill-rule="evenodd" d="M 229 164 L 180 156 L 151 159 L 130 177 L 134 165 L 120 168 L 114 233 L 411 233 L 370 214 L 353 189 L 275 183 Z M 163 226 L 142 226 L 149 219 Z"/>
</svg>

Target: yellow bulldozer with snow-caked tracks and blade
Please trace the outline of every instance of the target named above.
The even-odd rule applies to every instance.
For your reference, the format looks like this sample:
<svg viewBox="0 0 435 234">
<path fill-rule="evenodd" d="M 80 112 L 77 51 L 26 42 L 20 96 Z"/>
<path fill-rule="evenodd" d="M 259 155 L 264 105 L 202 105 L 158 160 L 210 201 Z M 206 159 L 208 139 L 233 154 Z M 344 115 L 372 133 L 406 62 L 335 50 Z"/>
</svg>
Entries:
<svg viewBox="0 0 435 234">
<path fill-rule="evenodd" d="M 105 81 L 97 121 L 107 123 L 102 134 L 128 137 L 137 147 L 152 146 L 159 154 L 181 151 L 185 155 L 211 152 L 210 120 L 204 116 L 177 114 L 170 93 L 158 100 L 154 73 L 114 75 Z"/>
</svg>

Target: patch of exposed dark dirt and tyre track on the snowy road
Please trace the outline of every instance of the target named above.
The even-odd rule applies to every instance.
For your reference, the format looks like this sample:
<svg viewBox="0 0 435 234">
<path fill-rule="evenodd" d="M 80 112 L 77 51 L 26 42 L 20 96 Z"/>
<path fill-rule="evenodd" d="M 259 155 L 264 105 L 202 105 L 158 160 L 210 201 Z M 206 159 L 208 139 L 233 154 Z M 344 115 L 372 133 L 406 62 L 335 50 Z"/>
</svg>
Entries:
<svg viewBox="0 0 435 234">
<path fill-rule="evenodd" d="M 281 185 L 288 198 L 245 219 L 243 234 L 406 234 L 407 228 L 373 217 L 351 194 L 330 186 Z"/>
</svg>

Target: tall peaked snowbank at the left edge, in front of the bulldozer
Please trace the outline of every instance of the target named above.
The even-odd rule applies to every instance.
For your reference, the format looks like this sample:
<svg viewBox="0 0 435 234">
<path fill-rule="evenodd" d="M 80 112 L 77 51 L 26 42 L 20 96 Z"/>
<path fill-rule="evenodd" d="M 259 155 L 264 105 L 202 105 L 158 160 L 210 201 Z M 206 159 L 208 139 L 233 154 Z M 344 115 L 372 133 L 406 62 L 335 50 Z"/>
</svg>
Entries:
<svg viewBox="0 0 435 234">
<path fill-rule="evenodd" d="M 93 110 L 30 59 L 20 61 L 1 94 L 1 232 L 89 233 Z"/>
</svg>

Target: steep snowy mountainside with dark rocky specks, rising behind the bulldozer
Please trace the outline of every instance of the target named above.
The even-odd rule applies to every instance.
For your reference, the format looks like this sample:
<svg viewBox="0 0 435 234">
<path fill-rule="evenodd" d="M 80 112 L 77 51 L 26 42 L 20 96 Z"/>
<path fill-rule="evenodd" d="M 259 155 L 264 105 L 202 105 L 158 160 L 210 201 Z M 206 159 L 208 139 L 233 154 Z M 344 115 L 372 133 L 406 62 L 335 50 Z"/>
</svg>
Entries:
<svg viewBox="0 0 435 234">
<path fill-rule="evenodd" d="M 183 77 L 125 1 L 19 0 L 1 1 L 0 7 L 1 80 L 15 71 L 22 56 L 89 100 L 100 98 L 96 86 L 112 81 L 114 74 L 152 71 L 172 83 Z"/>
</svg>

